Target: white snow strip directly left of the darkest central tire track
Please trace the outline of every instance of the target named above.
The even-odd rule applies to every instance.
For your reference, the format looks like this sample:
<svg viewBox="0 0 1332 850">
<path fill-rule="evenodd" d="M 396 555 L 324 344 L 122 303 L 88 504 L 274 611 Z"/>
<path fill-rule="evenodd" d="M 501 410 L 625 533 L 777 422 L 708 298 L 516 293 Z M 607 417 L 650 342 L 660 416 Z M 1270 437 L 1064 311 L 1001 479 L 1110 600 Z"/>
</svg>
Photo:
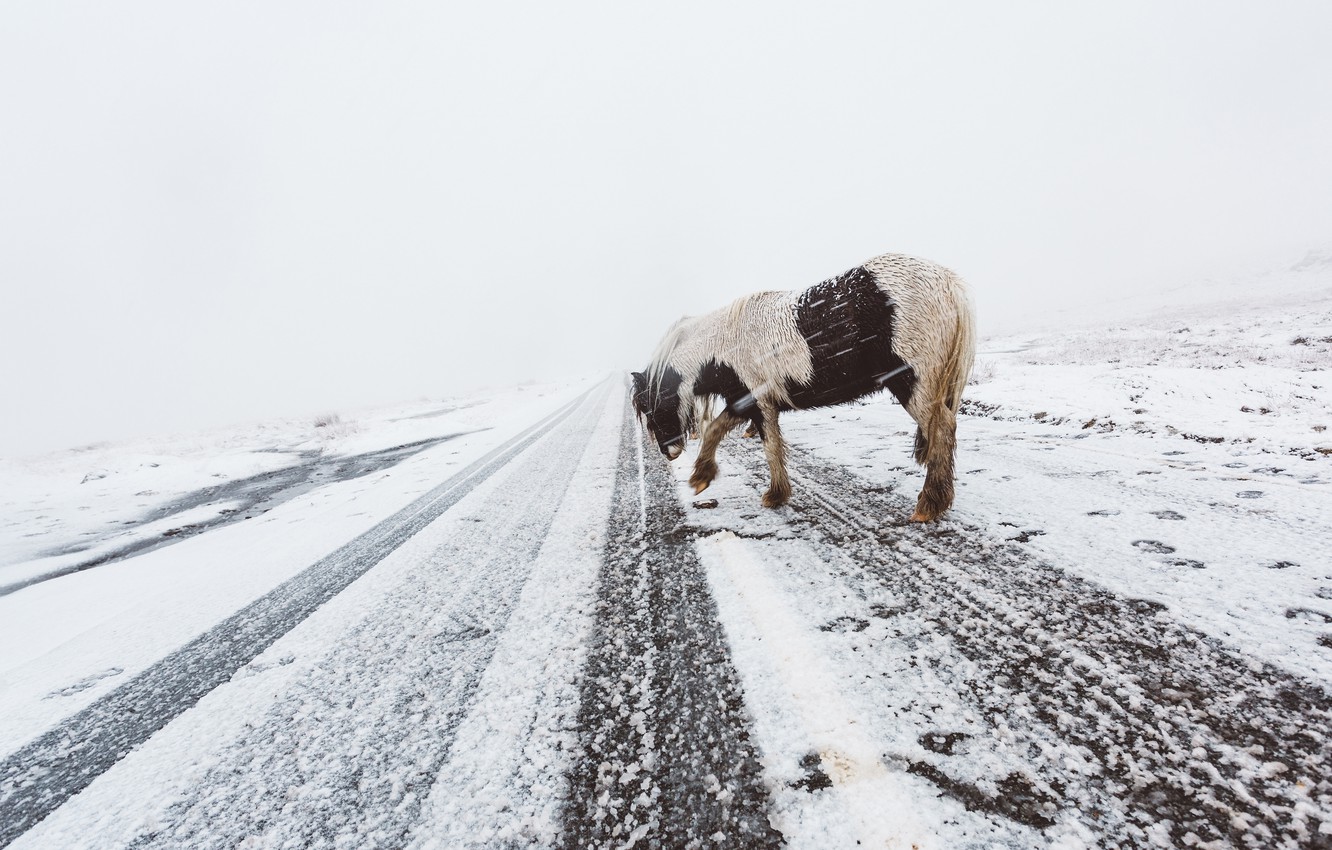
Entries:
<svg viewBox="0 0 1332 850">
<path fill-rule="evenodd" d="M 538 850 L 559 839 L 622 421 L 615 388 L 408 850 Z"/>
</svg>

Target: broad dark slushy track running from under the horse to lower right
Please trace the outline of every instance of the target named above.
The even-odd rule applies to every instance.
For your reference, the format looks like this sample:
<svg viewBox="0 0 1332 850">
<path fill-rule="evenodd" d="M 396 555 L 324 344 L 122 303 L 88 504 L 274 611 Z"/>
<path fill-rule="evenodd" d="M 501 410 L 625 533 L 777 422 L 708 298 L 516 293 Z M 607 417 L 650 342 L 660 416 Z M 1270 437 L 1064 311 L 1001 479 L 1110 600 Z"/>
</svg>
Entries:
<svg viewBox="0 0 1332 850">
<path fill-rule="evenodd" d="M 1024 742 L 1038 782 L 995 777 L 987 791 L 958 779 L 947 737 L 907 771 L 968 809 L 1031 826 L 1072 819 L 1098 847 L 1332 847 L 1324 690 L 980 529 L 908 525 L 907 498 L 791 454 L 802 536 L 943 639 L 918 657 L 954 670 L 943 677 L 955 698 L 995 735 Z M 733 441 L 731 458 L 761 489 L 761 453 Z"/>
</svg>

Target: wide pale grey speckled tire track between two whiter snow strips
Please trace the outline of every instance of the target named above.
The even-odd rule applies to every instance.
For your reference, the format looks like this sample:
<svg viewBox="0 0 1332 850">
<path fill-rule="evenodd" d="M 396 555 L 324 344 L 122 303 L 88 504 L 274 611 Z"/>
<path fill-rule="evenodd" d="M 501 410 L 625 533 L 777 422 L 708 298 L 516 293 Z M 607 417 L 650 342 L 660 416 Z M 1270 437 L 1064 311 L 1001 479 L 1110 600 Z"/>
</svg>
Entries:
<svg viewBox="0 0 1332 850">
<path fill-rule="evenodd" d="M 609 389 L 515 461 L 131 847 L 406 846 Z"/>
</svg>

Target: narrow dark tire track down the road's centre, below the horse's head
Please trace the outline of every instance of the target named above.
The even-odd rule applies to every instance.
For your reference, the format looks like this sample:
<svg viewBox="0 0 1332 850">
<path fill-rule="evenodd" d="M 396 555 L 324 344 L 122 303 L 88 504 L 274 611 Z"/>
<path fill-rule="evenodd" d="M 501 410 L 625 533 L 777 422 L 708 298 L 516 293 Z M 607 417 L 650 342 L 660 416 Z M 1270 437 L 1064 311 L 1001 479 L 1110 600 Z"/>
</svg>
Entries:
<svg viewBox="0 0 1332 850">
<path fill-rule="evenodd" d="M 717 606 L 643 440 L 626 405 L 562 846 L 777 847 Z"/>
</svg>

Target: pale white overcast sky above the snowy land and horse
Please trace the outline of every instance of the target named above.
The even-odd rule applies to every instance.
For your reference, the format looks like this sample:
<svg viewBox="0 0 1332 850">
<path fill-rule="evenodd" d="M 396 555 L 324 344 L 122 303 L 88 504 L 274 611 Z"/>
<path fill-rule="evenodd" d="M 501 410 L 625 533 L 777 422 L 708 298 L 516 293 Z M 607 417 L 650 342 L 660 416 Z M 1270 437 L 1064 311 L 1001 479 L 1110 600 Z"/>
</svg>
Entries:
<svg viewBox="0 0 1332 850">
<path fill-rule="evenodd" d="M 638 368 L 883 252 L 982 329 L 1332 244 L 1332 4 L 0 7 L 0 454 Z"/>
</svg>

